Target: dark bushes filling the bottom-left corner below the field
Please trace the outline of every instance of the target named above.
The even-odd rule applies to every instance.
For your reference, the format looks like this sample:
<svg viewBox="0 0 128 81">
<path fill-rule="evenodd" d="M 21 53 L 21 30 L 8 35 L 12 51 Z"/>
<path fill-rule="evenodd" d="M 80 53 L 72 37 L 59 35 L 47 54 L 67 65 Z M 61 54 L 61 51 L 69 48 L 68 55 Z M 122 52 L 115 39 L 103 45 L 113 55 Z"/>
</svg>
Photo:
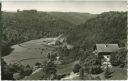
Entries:
<svg viewBox="0 0 128 81">
<path fill-rule="evenodd" d="M 14 80 L 15 74 L 18 79 L 24 78 L 24 76 L 29 76 L 32 73 L 32 68 L 29 65 L 21 65 L 21 64 L 9 64 L 7 65 L 4 59 L 1 59 L 2 66 L 2 80 Z"/>
</svg>

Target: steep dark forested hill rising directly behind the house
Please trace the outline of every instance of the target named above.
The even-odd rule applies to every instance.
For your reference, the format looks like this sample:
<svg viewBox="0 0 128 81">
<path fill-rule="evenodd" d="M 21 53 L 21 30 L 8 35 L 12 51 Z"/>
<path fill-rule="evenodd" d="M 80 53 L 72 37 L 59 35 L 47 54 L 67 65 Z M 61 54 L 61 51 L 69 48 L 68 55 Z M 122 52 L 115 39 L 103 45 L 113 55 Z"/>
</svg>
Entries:
<svg viewBox="0 0 128 81">
<path fill-rule="evenodd" d="M 126 31 L 126 12 L 104 12 L 71 31 L 68 42 L 84 48 L 93 47 L 96 43 L 118 43 L 124 46 Z"/>
</svg>

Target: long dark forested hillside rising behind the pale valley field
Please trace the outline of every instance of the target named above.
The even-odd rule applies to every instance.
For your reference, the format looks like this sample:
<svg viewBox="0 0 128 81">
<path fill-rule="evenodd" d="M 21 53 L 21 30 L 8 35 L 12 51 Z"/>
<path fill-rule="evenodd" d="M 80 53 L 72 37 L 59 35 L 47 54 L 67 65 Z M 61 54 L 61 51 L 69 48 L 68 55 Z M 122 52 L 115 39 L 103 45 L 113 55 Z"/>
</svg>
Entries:
<svg viewBox="0 0 128 81">
<path fill-rule="evenodd" d="M 63 13 L 65 15 L 61 15 Z M 74 28 L 76 24 L 71 21 L 80 24 L 83 22 L 84 16 L 87 16 L 87 19 L 94 17 L 90 16 L 93 14 L 86 13 L 63 13 L 38 12 L 36 10 L 3 12 L 3 39 L 8 43 L 16 44 L 41 37 L 55 37 Z M 68 17 L 71 16 L 70 14 L 74 15 Z M 87 19 L 85 18 L 85 20 Z"/>
</svg>

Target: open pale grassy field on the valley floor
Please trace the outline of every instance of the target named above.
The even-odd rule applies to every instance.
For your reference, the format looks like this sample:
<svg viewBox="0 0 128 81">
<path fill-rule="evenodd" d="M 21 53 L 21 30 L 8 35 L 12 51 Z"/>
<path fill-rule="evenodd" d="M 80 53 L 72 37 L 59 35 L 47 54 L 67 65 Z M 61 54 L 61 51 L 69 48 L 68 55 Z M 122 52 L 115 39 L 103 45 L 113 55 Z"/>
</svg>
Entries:
<svg viewBox="0 0 128 81">
<path fill-rule="evenodd" d="M 21 63 L 34 65 L 37 62 L 44 62 L 47 60 L 47 53 L 52 51 L 55 47 L 48 46 L 42 42 L 42 39 L 31 40 L 21 43 L 20 45 L 13 45 L 11 48 L 14 50 L 4 57 L 7 64 Z M 23 60 L 24 59 L 24 60 Z"/>
</svg>

